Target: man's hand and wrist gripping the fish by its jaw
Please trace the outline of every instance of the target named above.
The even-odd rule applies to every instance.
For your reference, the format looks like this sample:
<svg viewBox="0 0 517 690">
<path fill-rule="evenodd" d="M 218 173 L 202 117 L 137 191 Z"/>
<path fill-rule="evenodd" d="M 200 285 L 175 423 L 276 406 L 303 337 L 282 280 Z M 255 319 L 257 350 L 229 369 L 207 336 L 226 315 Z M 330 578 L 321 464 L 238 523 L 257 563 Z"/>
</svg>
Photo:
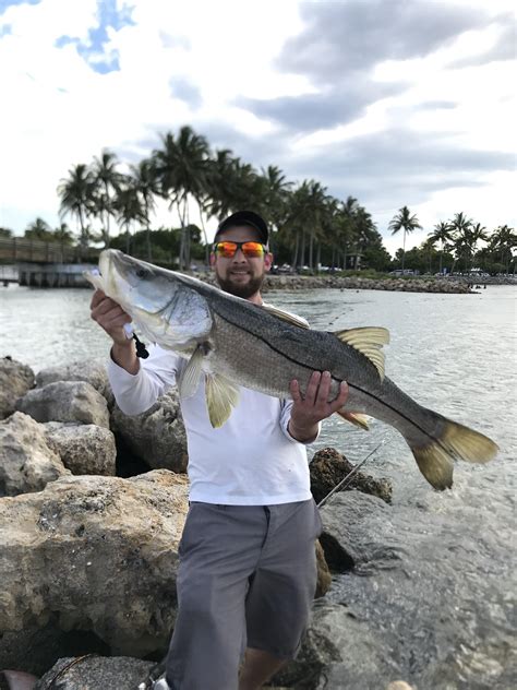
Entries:
<svg viewBox="0 0 517 690">
<path fill-rule="evenodd" d="M 124 323 L 131 323 L 131 317 L 120 305 L 107 297 L 103 290 L 95 290 L 89 305 L 91 317 L 113 341 L 111 357 L 130 373 L 140 369 L 134 343 L 128 338 Z"/>
</svg>

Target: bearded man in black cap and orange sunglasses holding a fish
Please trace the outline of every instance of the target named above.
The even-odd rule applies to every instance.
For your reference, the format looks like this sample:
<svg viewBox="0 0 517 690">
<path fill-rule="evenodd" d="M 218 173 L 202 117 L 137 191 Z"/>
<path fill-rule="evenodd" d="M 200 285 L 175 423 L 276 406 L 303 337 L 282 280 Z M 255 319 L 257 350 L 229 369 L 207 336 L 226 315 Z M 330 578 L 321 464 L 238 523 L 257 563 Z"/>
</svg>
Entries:
<svg viewBox="0 0 517 690">
<path fill-rule="evenodd" d="M 226 218 L 211 262 L 221 289 L 262 305 L 273 262 L 264 219 L 251 211 Z M 108 371 L 119 406 L 144 412 L 175 384 L 184 360 L 154 346 L 140 362 L 123 330 L 130 317 L 99 290 L 92 318 L 113 340 Z M 328 403 L 329 389 L 328 372 L 313 372 L 304 396 L 292 381 L 292 401 L 241 389 L 220 429 L 209 424 L 203 383 L 180 401 L 191 504 L 179 547 L 170 689 L 255 690 L 296 655 L 314 595 L 321 532 L 305 444 L 348 395 L 344 383 Z"/>
</svg>

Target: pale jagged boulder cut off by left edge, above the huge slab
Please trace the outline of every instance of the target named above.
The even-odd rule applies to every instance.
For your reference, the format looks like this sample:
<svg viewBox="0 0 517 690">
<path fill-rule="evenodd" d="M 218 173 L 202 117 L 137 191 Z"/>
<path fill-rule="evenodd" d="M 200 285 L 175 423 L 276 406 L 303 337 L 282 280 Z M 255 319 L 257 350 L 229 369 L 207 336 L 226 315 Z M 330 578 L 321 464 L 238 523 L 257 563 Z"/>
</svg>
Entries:
<svg viewBox="0 0 517 690">
<path fill-rule="evenodd" d="M 40 491 L 69 474 L 32 417 L 15 412 L 0 421 L 0 496 Z"/>
</svg>

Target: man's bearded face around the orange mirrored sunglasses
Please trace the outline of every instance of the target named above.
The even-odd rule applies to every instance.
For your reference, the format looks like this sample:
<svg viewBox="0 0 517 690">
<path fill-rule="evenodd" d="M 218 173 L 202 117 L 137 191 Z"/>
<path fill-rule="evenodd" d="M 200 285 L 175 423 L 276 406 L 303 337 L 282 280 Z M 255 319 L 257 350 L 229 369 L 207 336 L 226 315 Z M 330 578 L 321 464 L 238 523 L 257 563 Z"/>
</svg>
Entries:
<svg viewBox="0 0 517 690">
<path fill-rule="evenodd" d="M 217 236 L 217 241 L 260 242 L 258 231 L 251 227 L 232 227 Z M 272 267 L 273 255 L 244 257 L 239 248 L 231 259 L 212 254 L 211 263 L 215 270 L 217 283 L 225 293 L 249 299 L 260 292 L 264 275 Z"/>
</svg>

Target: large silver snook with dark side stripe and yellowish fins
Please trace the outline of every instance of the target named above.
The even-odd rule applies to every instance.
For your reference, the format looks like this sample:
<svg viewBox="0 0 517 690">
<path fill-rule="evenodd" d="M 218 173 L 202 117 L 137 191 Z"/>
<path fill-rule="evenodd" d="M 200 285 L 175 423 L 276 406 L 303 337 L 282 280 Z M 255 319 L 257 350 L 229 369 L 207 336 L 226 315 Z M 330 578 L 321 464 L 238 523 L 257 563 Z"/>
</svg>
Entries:
<svg viewBox="0 0 517 690">
<path fill-rule="evenodd" d="M 113 249 L 101 252 L 99 271 L 89 276 L 93 285 L 117 301 L 146 337 L 188 359 L 180 394 L 192 395 L 205 378 L 214 427 L 228 419 L 239 385 L 289 397 L 292 379 L 303 393 L 312 371 L 329 371 L 332 398 L 341 381 L 349 386 L 342 416 L 366 414 L 395 427 L 436 489 L 452 486 L 454 459 L 484 463 L 498 450 L 482 433 L 422 407 L 384 376 L 385 329 L 313 331 L 275 308 Z"/>
</svg>

